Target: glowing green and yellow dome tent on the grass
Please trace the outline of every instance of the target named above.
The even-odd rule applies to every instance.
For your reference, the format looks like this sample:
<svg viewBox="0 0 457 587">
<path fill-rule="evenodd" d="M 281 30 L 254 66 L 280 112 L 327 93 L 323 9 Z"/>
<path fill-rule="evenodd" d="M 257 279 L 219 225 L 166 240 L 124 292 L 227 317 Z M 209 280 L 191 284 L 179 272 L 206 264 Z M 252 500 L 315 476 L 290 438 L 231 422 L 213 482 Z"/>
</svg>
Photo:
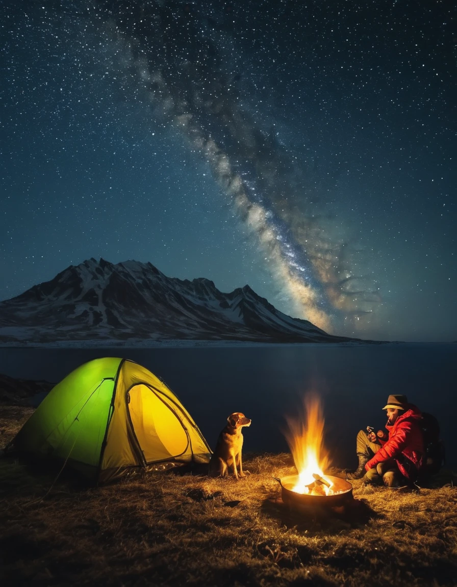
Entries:
<svg viewBox="0 0 457 587">
<path fill-rule="evenodd" d="M 95 359 L 58 383 L 12 441 L 102 483 L 157 463 L 208 463 L 210 448 L 183 404 L 126 359 Z"/>
</svg>

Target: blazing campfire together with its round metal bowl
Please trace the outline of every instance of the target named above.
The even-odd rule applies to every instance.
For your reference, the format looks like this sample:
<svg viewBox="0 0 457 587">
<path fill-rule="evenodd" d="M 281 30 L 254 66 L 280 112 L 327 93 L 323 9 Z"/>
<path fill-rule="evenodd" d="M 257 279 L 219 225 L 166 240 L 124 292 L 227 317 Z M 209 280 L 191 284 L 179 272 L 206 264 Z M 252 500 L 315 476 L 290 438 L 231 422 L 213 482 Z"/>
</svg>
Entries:
<svg viewBox="0 0 457 587">
<path fill-rule="evenodd" d="M 352 498 L 352 485 L 324 473 L 330 465 L 324 447 L 324 417 L 320 400 L 308 395 L 303 418 L 287 419 L 285 432 L 297 475 L 278 479 L 283 488 L 283 501 L 335 505 Z"/>
</svg>

